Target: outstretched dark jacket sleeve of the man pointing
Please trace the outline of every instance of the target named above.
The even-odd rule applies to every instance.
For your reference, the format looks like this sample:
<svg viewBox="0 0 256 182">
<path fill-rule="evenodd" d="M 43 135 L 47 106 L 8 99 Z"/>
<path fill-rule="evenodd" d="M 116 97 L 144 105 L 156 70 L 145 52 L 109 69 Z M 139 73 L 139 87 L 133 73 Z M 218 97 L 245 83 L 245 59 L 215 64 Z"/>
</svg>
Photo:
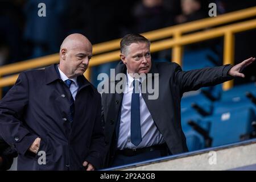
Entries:
<svg viewBox="0 0 256 182">
<path fill-rule="evenodd" d="M 228 71 L 231 68 L 232 65 L 227 64 L 220 67 L 182 71 L 181 67 L 176 64 L 174 78 L 176 84 L 180 86 L 181 92 L 184 93 L 232 80 L 234 77 L 228 75 Z"/>
</svg>

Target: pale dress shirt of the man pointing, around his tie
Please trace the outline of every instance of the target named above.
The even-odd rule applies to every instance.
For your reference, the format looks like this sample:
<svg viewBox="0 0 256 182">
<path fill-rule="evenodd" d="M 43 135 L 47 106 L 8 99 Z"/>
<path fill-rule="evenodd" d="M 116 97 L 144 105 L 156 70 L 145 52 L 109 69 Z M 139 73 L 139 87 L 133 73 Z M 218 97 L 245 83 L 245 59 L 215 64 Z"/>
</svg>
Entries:
<svg viewBox="0 0 256 182">
<path fill-rule="evenodd" d="M 164 143 L 163 136 L 155 126 L 150 111 L 147 109 L 147 105 L 143 100 L 141 87 L 139 93 L 139 109 L 141 113 L 142 142 L 139 143 L 138 146 L 134 146 L 134 144 L 131 143 L 131 95 L 133 93 L 133 80 L 134 78 L 127 73 L 127 85 L 125 88 L 125 93 L 123 94 L 117 142 L 118 150 L 123 150 L 126 148 L 143 148 Z"/>
</svg>

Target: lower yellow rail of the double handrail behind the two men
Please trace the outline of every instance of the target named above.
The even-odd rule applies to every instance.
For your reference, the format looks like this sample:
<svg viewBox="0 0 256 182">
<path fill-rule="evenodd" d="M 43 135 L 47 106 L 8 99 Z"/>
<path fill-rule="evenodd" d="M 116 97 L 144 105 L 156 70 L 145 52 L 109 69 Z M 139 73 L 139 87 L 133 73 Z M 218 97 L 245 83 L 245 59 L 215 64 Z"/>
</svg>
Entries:
<svg viewBox="0 0 256 182">
<path fill-rule="evenodd" d="M 220 36 L 225 36 L 225 34 L 227 34 L 228 32 L 235 34 L 237 32 L 250 30 L 253 28 L 256 28 L 256 19 L 247 20 L 246 22 L 241 22 L 241 23 L 230 24 L 228 26 L 212 28 L 210 30 L 203 31 L 203 32 L 196 32 L 193 34 L 184 35 L 180 39 L 159 40 L 158 42 L 153 42 L 151 44 L 151 52 L 158 52 L 160 50 L 172 48 L 174 46 L 183 46 L 186 44 L 201 42 L 203 40 L 218 38 Z M 224 55 L 229 54 L 229 53 L 230 52 L 224 53 Z M 227 58 L 227 59 L 229 59 L 229 58 Z M 48 59 L 47 56 L 44 57 L 44 60 L 48 61 L 47 63 L 52 64 L 51 59 Z M 119 60 L 119 51 L 114 51 L 114 52 L 109 52 L 109 53 L 104 53 L 101 55 L 94 56 L 92 58 L 92 61 L 90 62 L 89 66 L 94 67 L 96 65 L 100 65 L 100 64 L 104 64 L 106 62 L 116 61 L 116 60 Z M 32 60 L 31 60 L 31 62 L 32 62 Z M 230 61 L 225 59 L 224 63 L 228 64 L 228 63 L 230 63 Z M 233 64 L 233 63 L 231 63 L 231 64 Z M 0 79 L 0 87 L 13 85 L 14 82 L 16 81 L 17 77 L 18 77 L 18 74 L 1 78 Z"/>
</svg>

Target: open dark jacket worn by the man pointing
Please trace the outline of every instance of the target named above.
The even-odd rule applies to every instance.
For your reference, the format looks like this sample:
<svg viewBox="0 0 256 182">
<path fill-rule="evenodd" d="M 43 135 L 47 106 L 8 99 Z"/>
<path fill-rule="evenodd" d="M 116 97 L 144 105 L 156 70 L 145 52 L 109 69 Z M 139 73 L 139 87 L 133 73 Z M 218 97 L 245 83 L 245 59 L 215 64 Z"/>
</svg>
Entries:
<svg viewBox="0 0 256 182">
<path fill-rule="evenodd" d="M 180 101 L 184 92 L 197 90 L 203 86 L 213 86 L 232 80 L 228 76 L 232 65 L 221 67 L 182 71 L 176 63 L 152 63 L 150 73 L 159 74 L 159 97 L 149 100 L 149 93 L 142 94 L 147 108 L 163 135 L 171 154 L 179 154 L 188 151 L 185 135 L 181 129 Z M 126 66 L 120 62 L 115 68 L 115 74 L 126 73 Z M 153 79 L 154 81 L 154 75 Z M 119 81 L 115 81 L 117 84 Z M 123 94 L 103 93 L 102 106 L 105 121 L 105 143 L 109 154 L 106 163 L 114 157 L 117 138 L 115 128 L 118 123 L 118 114 L 121 112 Z"/>
</svg>

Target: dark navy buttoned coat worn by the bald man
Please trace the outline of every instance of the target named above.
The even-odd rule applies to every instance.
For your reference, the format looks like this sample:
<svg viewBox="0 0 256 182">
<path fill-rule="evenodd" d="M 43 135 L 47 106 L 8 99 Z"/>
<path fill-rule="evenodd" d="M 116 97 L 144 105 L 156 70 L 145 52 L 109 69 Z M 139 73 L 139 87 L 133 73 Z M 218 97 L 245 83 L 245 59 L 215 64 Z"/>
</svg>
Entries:
<svg viewBox="0 0 256 182">
<path fill-rule="evenodd" d="M 102 166 L 101 96 L 84 76 L 77 81 L 72 124 L 67 120 L 72 95 L 56 65 L 20 73 L 0 101 L 0 134 L 18 151 L 18 169 L 83 170 L 85 160 L 96 168 Z M 39 151 L 46 152 L 46 164 L 38 163 L 42 154 L 28 152 L 37 137 L 41 138 Z"/>
</svg>

